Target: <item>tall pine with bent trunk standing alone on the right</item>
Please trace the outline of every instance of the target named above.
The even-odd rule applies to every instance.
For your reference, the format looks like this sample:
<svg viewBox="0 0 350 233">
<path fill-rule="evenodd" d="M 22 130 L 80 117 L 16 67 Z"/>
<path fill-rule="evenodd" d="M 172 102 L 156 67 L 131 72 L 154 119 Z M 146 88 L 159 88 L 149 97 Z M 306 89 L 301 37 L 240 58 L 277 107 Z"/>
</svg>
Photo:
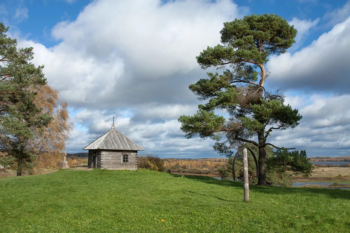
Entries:
<svg viewBox="0 0 350 233">
<path fill-rule="evenodd" d="M 222 154 L 245 143 L 259 148 L 258 184 L 266 184 L 267 137 L 273 130 L 294 128 L 302 116 L 297 109 L 285 105 L 284 96 L 265 89 L 265 64 L 270 55 L 280 55 L 295 42 L 296 30 L 275 14 L 249 15 L 224 23 L 221 42 L 208 47 L 197 57 L 203 69 L 225 69 L 222 74 L 208 73 L 189 86 L 199 100 L 194 116 L 181 116 L 181 129 L 191 138 L 199 135 L 217 140 L 215 149 Z M 224 110 L 229 117 L 216 115 Z M 219 142 L 222 134 L 226 140 Z M 257 137 L 254 141 L 252 138 Z"/>
</svg>

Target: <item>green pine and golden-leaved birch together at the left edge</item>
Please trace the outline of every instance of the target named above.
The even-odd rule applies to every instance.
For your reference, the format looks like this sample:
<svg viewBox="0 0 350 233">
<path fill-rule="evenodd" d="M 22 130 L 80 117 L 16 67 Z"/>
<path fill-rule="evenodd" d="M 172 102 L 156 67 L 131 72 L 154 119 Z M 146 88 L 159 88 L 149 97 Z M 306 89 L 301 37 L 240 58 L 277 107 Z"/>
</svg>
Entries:
<svg viewBox="0 0 350 233">
<path fill-rule="evenodd" d="M 31 63 L 33 48 L 17 48 L 7 31 L 0 23 L 0 166 L 20 176 L 55 166 L 73 124 L 44 66 Z"/>
</svg>

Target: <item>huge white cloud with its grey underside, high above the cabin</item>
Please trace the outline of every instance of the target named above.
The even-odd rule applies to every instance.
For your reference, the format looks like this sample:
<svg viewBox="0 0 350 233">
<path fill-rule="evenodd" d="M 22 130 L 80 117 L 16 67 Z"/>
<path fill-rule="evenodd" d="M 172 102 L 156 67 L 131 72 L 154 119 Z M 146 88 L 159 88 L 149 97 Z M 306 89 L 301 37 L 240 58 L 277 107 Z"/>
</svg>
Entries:
<svg viewBox="0 0 350 233">
<path fill-rule="evenodd" d="M 45 64 L 49 84 L 72 107 L 186 101 L 188 85 L 205 75 L 195 57 L 239 16 L 229 0 L 100 0 L 52 29 L 58 45 L 20 46 L 34 47 L 35 64 Z"/>
</svg>

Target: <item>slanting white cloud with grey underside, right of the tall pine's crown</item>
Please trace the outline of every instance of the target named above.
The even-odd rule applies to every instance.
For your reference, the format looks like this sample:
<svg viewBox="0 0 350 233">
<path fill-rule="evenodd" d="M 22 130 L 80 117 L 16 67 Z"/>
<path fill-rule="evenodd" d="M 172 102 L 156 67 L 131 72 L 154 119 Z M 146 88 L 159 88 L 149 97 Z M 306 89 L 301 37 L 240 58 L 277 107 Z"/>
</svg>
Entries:
<svg viewBox="0 0 350 233">
<path fill-rule="evenodd" d="M 349 93 L 350 17 L 300 51 L 272 56 L 269 83 L 283 89 Z"/>
</svg>

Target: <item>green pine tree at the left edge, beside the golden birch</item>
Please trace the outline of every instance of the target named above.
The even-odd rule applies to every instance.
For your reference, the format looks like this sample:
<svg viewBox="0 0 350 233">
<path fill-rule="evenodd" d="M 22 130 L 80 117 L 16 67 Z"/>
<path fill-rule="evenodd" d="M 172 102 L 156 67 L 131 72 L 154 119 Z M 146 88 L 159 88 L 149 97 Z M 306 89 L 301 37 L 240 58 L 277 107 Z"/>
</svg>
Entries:
<svg viewBox="0 0 350 233">
<path fill-rule="evenodd" d="M 36 160 L 26 144 L 51 116 L 34 103 L 36 90 L 46 84 L 43 66 L 30 63 L 33 48 L 18 49 L 16 39 L 7 37 L 7 30 L 0 23 L 0 148 L 15 158 L 17 175 L 22 175 Z"/>
</svg>

